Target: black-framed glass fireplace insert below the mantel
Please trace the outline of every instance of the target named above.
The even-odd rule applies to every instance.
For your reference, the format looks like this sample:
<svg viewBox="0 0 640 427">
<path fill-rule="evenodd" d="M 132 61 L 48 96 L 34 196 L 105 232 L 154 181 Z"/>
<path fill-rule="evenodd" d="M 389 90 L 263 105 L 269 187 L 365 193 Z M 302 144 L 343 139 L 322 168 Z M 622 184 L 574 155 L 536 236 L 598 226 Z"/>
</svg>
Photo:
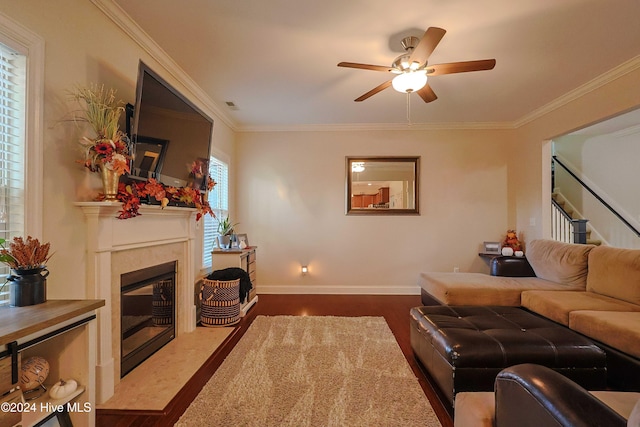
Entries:
<svg viewBox="0 0 640 427">
<path fill-rule="evenodd" d="M 120 276 L 120 377 L 176 335 L 176 261 Z"/>
</svg>

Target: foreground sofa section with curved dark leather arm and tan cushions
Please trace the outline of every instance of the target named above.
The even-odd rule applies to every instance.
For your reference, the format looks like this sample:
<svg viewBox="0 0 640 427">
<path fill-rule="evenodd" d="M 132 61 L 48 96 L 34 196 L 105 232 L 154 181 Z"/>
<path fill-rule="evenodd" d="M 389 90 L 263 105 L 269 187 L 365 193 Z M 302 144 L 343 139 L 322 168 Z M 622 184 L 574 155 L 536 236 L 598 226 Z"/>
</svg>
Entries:
<svg viewBox="0 0 640 427">
<path fill-rule="evenodd" d="M 458 397 L 455 427 L 640 426 L 640 393 L 590 392 L 541 365 L 511 366 L 495 391 Z"/>
</svg>

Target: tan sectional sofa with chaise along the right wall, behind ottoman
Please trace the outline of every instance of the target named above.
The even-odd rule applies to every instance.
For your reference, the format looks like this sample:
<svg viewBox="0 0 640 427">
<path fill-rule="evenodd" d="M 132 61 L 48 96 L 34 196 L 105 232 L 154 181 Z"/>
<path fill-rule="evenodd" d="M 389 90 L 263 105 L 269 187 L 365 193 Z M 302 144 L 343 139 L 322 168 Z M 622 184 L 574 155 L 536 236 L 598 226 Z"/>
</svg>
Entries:
<svg viewBox="0 0 640 427">
<path fill-rule="evenodd" d="M 523 307 L 564 325 L 605 351 L 611 388 L 640 391 L 640 250 L 534 240 L 489 275 L 427 272 L 419 284 L 425 305 Z"/>
</svg>

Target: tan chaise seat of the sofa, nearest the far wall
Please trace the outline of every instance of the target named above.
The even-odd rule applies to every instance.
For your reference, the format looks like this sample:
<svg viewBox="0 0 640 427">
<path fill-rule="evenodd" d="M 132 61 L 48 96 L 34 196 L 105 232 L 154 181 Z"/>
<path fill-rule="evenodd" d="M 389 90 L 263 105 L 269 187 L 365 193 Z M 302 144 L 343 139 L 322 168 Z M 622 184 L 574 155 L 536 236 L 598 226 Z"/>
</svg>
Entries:
<svg viewBox="0 0 640 427">
<path fill-rule="evenodd" d="M 527 289 L 567 289 L 537 277 L 489 276 L 482 273 L 422 273 L 420 287 L 446 305 L 520 306 Z"/>
</svg>

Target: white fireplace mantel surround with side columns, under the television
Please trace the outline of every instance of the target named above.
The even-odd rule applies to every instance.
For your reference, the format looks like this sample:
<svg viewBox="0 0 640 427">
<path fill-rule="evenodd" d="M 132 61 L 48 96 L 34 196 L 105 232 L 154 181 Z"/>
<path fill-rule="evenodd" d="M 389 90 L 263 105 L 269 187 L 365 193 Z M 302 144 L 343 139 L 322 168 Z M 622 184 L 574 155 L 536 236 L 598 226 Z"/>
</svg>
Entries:
<svg viewBox="0 0 640 427">
<path fill-rule="evenodd" d="M 105 306 L 98 310 L 96 361 L 96 402 L 104 403 L 113 395 L 119 381 L 120 340 L 115 335 L 120 331 L 119 274 L 123 268 L 133 271 L 149 266 L 147 263 L 157 257 L 177 257 L 176 335 L 196 327 L 193 298 L 196 210 L 142 205 L 140 216 L 118 219 L 122 209 L 118 202 L 78 202 L 76 206 L 84 212 L 87 227 L 86 298 L 105 300 Z M 167 248 L 169 255 L 166 255 Z M 122 254 L 126 255 L 126 266 L 116 265 L 114 261 L 121 260 Z"/>
</svg>

